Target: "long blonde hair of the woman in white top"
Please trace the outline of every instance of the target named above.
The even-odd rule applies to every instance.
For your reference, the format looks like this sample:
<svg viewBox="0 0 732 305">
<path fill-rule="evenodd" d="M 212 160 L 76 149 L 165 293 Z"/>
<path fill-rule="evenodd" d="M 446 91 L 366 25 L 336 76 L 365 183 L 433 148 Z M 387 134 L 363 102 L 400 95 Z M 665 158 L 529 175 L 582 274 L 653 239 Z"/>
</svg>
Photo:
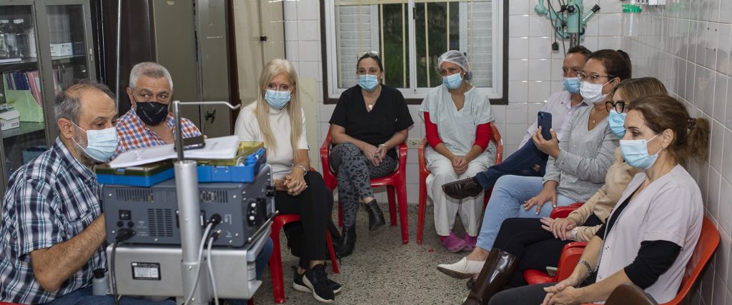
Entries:
<svg viewBox="0 0 732 305">
<path fill-rule="evenodd" d="M 259 94 L 257 94 L 257 107 L 254 110 L 254 116 L 257 118 L 259 130 L 262 132 L 262 138 L 264 138 L 264 147 L 272 152 L 277 151 L 275 135 L 272 134 L 272 128 L 269 128 L 269 104 L 264 100 L 264 93 L 266 92 L 267 84 L 269 84 L 272 78 L 280 75 L 280 73 L 286 73 L 292 82 L 292 96 L 285 109 L 290 116 L 292 130 L 290 133 L 290 144 L 292 146 L 293 156 L 297 157 L 296 144 L 300 135 L 302 135 L 302 108 L 298 98 L 297 72 L 295 72 L 295 67 L 287 59 L 272 59 L 262 69 L 262 73 L 259 75 Z"/>
</svg>

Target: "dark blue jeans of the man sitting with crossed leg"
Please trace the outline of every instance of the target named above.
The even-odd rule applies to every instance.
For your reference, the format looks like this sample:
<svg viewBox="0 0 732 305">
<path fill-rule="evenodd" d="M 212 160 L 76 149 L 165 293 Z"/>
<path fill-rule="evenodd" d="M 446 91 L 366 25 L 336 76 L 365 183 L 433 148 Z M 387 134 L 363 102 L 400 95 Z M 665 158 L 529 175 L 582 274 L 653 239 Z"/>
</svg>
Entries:
<svg viewBox="0 0 732 305">
<path fill-rule="evenodd" d="M 534 145 L 534 141 L 529 140 L 501 164 L 488 167 L 488 170 L 478 173 L 475 178 L 483 189 L 490 189 L 501 176 L 543 177 L 548 158 L 547 154 Z M 534 165 L 541 167 L 538 172 L 534 170 Z"/>
</svg>

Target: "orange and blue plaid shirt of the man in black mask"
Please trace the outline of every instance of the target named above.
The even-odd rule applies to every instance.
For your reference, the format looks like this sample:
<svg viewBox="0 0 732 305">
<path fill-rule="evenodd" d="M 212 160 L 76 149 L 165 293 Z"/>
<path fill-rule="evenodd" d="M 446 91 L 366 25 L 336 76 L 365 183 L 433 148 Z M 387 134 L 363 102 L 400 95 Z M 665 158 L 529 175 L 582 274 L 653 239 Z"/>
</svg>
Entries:
<svg viewBox="0 0 732 305">
<path fill-rule="evenodd" d="M 168 117 L 165 118 L 165 124 L 168 124 L 168 127 L 173 130 L 173 137 L 175 137 L 176 120 L 173 113 L 168 112 Z M 116 127 L 117 135 L 119 136 L 119 146 L 117 146 L 115 157 L 131 149 L 165 145 L 163 139 L 152 132 L 150 127 L 138 118 L 134 109 L 130 109 L 130 111 L 124 113 L 124 116 L 117 120 Z M 187 118 L 181 118 L 181 128 L 183 129 L 183 138 L 198 137 L 201 135 L 198 127 L 195 127 L 195 124 Z"/>
</svg>

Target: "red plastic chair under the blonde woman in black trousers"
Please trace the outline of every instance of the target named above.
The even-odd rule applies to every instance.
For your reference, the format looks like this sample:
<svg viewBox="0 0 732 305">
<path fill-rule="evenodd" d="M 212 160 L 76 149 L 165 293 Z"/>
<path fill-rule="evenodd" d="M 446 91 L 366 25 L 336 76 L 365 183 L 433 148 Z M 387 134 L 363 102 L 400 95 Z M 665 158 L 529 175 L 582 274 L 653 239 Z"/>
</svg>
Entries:
<svg viewBox="0 0 732 305">
<path fill-rule="evenodd" d="M 272 291 L 275 293 L 275 303 L 285 303 L 285 283 L 283 279 L 282 271 L 282 253 L 280 253 L 280 230 L 288 222 L 297 222 L 300 220 L 300 215 L 297 214 L 280 214 L 275 216 L 272 221 L 272 233 L 269 236 L 272 238 L 272 257 L 269 258 L 269 271 L 272 271 Z M 330 261 L 332 264 L 333 272 L 339 273 L 338 262 L 335 257 L 335 250 L 333 249 L 333 242 L 330 239 L 330 233 L 326 230 L 326 245 L 328 246 L 328 252 L 330 253 Z"/>
</svg>

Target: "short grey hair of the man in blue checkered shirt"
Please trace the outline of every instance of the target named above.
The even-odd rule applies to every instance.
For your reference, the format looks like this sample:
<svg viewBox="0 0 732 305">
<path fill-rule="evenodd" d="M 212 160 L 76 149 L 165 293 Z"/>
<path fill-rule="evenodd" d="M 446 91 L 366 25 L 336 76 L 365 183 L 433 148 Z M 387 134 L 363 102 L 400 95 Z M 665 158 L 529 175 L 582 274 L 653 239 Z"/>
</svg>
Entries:
<svg viewBox="0 0 732 305">
<path fill-rule="evenodd" d="M 56 102 L 53 104 L 56 121 L 59 121 L 59 118 L 66 118 L 74 124 L 78 124 L 79 114 L 81 113 L 81 94 L 89 90 L 102 91 L 113 101 L 115 100 L 114 94 L 107 85 L 97 83 L 94 80 L 78 80 L 77 83 L 61 91 L 56 96 Z"/>
</svg>

